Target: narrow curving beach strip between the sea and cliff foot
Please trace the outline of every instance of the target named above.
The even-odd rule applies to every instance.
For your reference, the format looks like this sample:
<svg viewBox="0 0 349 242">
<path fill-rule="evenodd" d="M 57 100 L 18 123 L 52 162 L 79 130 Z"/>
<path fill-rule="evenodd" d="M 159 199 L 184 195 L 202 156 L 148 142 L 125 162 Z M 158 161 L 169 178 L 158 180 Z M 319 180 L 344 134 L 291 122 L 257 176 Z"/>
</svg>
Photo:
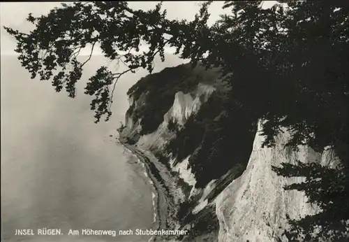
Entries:
<svg viewBox="0 0 349 242">
<path fill-rule="evenodd" d="M 153 227 L 151 229 L 161 230 L 170 229 L 168 227 L 169 222 L 169 206 L 172 204 L 170 202 L 169 194 L 167 193 L 169 188 L 165 185 L 165 180 L 161 177 L 161 172 L 158 171 L 155 161 L 151 161 L 151 157 L 148 157 L 142 150 L 135 147 L 135 145 L 130 145 L 126 143 L 124 137 L 119 136 L 119 143 L 133 155 L 138 158 L 138 162 L 142 164 L 144 168 L 144 176 L 149 179 L 149 183 L 152 187 L 153 192 L 151 192 L 154 220 Z M 155 173 L 154 173 L 155 171 Z M 161 236 L 151 236 L 148 242 L 163 241 Z"/>
</svg>

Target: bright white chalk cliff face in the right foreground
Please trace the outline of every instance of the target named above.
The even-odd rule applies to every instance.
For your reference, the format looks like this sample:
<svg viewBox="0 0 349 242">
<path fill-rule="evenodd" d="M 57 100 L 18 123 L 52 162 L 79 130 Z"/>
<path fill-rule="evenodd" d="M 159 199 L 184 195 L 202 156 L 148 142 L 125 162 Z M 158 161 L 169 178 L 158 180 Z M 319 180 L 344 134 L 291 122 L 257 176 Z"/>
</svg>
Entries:
<svg viewBox="0 0 349 242">
<path fill-rule="evenodd" d="M 303 192 L 285 191 L 284 185 L 302 182 L 302 178 L 276 176 L 272 166 L 281 162 L 294 164 L 320 162 L 328 164 L 329 151 L 322 154 L 311 148 L 299 147 L 299 152 L 284 148 L 290 134 L 285 131 L 276 138 L 274 148 L 261 148 L 264 137 L 260 124 L 255 135 L 253 151 L 246 170 L 221 192 L 216 199 L 216 214 L 220 223 L 219 242 L 280 242 L 291 219 L 317 213 L 318 209 L 306 203 Z"/>
</svg>

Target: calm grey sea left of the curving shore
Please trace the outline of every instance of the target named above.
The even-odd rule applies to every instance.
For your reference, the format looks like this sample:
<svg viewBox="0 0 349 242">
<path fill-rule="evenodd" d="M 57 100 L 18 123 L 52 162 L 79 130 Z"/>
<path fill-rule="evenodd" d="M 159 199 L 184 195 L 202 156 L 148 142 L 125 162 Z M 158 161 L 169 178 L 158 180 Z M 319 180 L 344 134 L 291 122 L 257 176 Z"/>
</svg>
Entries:
<svg viewBox="0 0 349 242">
<path fill-rule="evenodd" d="M 90 74 L 94 67 L 88 67 Z M 132 84 L 117 88 L 110 122 L 94 124 L 86 95 L 78 93 L 72 100 L 57 94 L 50 83 L 30 80 L 15 57 L 1 57 L 2 241 L 149 239 L 14 235 L 15 229 L 41 227 L 60 228 L 64 234 L 68 229 L 151 227 L 151 187 L 135 157 L 114 140 Z"/>
</svg>

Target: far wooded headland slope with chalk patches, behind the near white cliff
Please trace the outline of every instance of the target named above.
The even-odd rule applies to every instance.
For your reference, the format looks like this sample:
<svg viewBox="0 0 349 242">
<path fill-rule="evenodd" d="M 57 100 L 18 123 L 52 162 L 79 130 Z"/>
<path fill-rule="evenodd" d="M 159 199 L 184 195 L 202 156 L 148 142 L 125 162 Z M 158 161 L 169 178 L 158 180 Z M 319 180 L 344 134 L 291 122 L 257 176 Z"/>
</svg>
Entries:
<svg viewBox="0 0 349 242">
<path fill-rule="evenodd" d="M 119 129 L 128 144 L 158 159 L 155 172 L 175 207 L 172 227 L 191 230 L 179 238 L 184 241 L 216 241 L 215 198 L 251 153 L 255 122 L 231 102 L 218 71 L 187 64 L 142 78 L 128 91 L 130 108 Z"/>
</svg>

